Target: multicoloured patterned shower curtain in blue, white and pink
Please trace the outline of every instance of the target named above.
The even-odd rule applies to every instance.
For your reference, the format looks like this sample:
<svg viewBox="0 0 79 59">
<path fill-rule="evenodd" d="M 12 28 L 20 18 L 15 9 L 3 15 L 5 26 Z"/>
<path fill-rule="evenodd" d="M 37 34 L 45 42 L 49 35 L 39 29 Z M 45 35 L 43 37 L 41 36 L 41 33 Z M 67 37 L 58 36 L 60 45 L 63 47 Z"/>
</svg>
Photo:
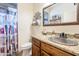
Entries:
<svg viewBox="0 0 79 59">
<path fill-rule="evenodd" d="M 0 56 L 13 56 L 18 50 L 17 9 L 0 12 Z"/>
</svg>

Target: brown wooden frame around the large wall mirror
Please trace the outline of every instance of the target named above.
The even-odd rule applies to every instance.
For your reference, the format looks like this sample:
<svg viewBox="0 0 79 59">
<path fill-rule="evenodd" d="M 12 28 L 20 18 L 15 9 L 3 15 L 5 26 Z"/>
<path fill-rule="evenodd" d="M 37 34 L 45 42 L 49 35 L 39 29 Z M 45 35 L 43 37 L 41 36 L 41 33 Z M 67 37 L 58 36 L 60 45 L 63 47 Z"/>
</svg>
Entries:
<svg viewBox="0 0 79 59">
<path fill-rule="evenodd" d="M 79 25 L 79 3 L 77 3 L 77 22 L 70 22 L 70 23 L 61 23 L 61 24 L 44 24 L 44 10 L 51 7 L 52 5 L 55 5 L 56 3 L 53 3 L 51 5 L 48 5 L 43 8 L 43 26 L 61 26 L 61 25 Z M 75 5 L 76 3 L 74 3 Z"/>
</svg>

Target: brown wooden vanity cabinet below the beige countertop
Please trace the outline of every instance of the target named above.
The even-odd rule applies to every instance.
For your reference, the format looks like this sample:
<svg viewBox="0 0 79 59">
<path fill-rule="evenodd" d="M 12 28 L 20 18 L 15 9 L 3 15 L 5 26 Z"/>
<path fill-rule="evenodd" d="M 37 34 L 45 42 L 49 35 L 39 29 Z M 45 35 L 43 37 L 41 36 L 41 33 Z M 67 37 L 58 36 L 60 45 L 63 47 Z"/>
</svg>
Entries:
<svg viewBox="0 0 79 59">
<path fill-rule="evenodd" d="M 74 56 L 69 52 L 56 48 L 50 44 L 32 38 L 32 55 L 33 56 Z"/>
</svg>

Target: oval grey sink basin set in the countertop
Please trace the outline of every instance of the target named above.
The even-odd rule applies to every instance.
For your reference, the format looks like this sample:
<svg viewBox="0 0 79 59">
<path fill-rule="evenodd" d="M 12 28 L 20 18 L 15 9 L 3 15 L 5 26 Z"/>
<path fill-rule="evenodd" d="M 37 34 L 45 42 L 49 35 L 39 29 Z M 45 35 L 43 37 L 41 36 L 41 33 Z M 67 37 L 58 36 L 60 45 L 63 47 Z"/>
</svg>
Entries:
<svg viewBox="0 0 79 59">
<path fill-rule="evenodd" d="M 52 38 L 52 37 L 50 37 L 48 40 L 51 42 L 55 42 L 55 43 L 59 43 L 59 44 L 63 44 L 63 45 L 68 45 L 68 46 L 77 46 L 78 45 L 77 41 L 73 41 L 73 40 L 70 40 L 67 38 L 58 38 L 58 37 Z"/>
</svg>

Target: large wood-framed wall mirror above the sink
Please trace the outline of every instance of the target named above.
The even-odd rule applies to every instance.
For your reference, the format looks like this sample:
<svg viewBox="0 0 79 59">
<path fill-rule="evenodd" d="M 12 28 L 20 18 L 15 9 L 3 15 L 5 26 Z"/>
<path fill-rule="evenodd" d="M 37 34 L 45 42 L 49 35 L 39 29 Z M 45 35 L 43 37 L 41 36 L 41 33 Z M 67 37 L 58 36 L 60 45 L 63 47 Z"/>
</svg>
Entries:
<svg viewBox="0 0 79 59">
<path fill-rule="evenodd" d="M 43 25 L 77 25 L 79 24 L 78 3 L 53 3 L 43 8 Z"/>
</svg>

